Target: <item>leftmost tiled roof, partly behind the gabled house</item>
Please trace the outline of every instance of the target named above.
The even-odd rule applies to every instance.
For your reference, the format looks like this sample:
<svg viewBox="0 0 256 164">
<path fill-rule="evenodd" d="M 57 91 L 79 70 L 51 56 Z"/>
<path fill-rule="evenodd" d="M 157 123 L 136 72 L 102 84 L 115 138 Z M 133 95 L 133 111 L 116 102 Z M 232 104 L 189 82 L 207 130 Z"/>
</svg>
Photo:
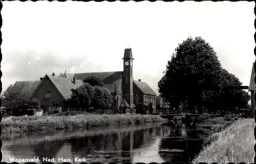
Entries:
<svg viewBox="0 0 256 164">
<path fill-rule="evenodd" d="M 41 81 L 16 81 L 11 90 L 32 96 L 33 92 Z"/>
</svg>

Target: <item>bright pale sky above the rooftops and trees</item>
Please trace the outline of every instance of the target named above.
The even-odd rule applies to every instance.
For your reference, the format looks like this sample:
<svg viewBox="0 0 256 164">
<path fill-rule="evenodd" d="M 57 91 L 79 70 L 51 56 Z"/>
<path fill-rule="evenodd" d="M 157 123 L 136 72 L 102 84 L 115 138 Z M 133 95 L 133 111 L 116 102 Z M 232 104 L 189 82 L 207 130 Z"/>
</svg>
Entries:
<svg viewBox="0 0 256 164">
<path fill-rule="evenodd" d="M 123 71 L 158 93 L 179 43 L 201 36 L 222 67 L 249 85 L 255 60 L 254 2 L 2 2 L 3 90 L 46 74 Z"/>
</svg>

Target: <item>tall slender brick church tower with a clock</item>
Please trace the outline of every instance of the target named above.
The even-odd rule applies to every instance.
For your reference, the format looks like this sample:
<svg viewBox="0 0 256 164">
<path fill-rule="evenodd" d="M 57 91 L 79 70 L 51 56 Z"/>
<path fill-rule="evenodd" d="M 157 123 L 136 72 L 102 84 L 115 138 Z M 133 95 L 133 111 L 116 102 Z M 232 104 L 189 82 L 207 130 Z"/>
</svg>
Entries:
<svg viewBox="0 0 256 164">
<path fill-rule="evenodd" d="M 130 105 L 130 112 L 133 107 L 133 53 L 132 49 L 125 49 L 123 55 L 123 97 Z"/>
</svg>

